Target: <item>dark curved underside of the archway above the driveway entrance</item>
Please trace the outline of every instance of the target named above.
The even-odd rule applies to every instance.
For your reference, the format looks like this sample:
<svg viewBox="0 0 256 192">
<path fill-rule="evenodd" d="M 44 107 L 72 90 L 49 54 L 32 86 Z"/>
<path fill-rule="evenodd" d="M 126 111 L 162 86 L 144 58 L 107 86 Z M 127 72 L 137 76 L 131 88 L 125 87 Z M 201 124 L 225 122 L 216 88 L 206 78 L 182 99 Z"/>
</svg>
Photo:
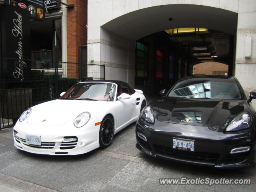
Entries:
<svg viewBox="0 0 256 192">
<path fill-rule="evenodd" d="M 207 28 L 234 35 L 237 16 L 236 12 L 210 6 L 162 5 L 124 14 L 101 27 L 131 40 L 166 29 L 184 27 Z"/>
</svg>

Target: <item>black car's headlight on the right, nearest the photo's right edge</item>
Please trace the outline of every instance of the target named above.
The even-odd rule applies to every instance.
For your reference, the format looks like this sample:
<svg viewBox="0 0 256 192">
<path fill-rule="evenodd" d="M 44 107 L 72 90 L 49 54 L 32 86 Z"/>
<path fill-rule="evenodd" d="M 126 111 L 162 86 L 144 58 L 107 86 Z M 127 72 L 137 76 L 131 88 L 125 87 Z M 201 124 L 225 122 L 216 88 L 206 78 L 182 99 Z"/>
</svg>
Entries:
<svg viewBox="0 0 256 192">
<path fill-rule="evenodd" d="M 237 115 L 226 127 L 226 131 L 239 131 L 243 129 L 248 129 L 252 125 L 253 118 L 249 113 L 240 113 Z"/>
</svg>

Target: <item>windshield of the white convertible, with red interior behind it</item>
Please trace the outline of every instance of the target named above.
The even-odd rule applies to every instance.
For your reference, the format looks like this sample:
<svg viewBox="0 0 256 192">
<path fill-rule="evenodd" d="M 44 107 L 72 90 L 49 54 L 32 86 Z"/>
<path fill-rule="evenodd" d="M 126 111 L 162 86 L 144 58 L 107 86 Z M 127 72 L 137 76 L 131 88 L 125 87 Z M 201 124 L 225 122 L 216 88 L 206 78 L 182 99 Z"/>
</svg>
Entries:
<svg viewBox="0 0 256 192">
<path fill-rule="evenodd" d="M 113 101 L 116 85 L 113 83 L 79 83 L 70 88 L 60 99 Z"/>
</svg>

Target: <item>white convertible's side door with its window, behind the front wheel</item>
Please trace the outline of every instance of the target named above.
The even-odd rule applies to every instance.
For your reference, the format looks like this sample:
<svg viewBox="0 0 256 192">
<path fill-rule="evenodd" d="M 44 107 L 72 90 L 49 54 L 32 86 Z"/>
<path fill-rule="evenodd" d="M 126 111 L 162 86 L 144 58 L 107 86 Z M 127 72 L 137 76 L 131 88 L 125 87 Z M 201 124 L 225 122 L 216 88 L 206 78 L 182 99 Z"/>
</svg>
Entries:
<svg viewBox="0 0 256 192">
<path fill-rule="evenodd" d="M 119 87 L 120 86 L 120 87 Z M 128 87 L 126 84 L 118 85 L 118 96 L 121 93 L 129 93 Z M 136 98 L 135 94 L 131 95 L 129 99 L 122 99 L 116 100 L 116 107 L 117 107 L 117 127 L 125 124 L 128 122 L 134 113 L 136 107 Z"/>
</svg>

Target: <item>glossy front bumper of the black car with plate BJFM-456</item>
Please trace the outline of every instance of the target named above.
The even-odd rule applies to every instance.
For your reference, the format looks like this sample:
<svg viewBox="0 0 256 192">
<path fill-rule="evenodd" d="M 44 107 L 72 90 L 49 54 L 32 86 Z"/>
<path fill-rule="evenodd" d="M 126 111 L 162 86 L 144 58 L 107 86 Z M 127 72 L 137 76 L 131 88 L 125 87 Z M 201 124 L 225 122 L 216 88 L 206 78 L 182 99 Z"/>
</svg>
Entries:
<svg viewBox="0 0 256 192">
<path fill-rule="evenodd" d="M 138 137 L 138 132 L 144 134 L 147 141 Z M 136 147 L 152 157 L 215 168 L 242 168 L 253 166 L 256 162 L 256 137 L 252 132 L 224 134 L 213 128 L 185 127 L 166 122 L 157 122 L 150 127 L 139 119 L 136 138 Z M 173 149 L 172 138 L 194 140 L 194 152 Z M 249 152 L 230 154 L 233 148 L 239 146 L 250 146 L 251 149 Z"/>
</svg>

